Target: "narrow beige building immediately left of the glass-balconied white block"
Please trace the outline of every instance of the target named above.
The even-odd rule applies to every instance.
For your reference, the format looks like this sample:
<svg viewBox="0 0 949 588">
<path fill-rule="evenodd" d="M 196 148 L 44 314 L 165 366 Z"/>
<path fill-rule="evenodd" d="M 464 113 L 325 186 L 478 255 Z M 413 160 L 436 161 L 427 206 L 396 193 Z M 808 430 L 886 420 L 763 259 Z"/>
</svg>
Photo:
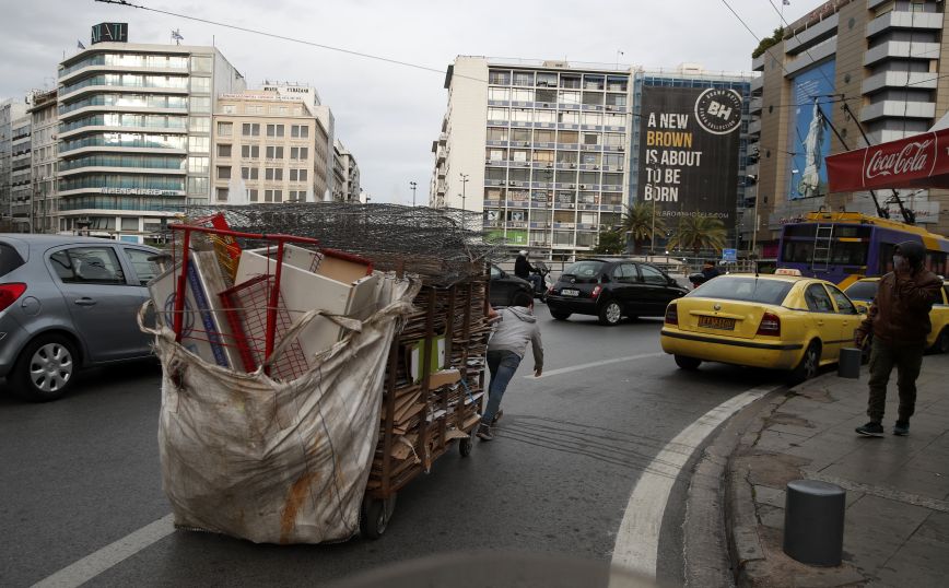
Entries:
<svg viewBox="0 0 949 588">
<path fill-rule="evenodd" d="M 32 232 L 56 233 L 56 91 L 35 93 L 30 114 L 33 122 Z"/>
</svg>

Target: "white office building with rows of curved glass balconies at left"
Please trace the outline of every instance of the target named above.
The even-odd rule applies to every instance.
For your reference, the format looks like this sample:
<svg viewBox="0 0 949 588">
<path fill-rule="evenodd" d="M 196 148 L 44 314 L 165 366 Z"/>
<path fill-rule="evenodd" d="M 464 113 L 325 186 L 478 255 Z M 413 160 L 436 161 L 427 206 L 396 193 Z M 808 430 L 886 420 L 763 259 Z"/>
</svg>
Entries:
<svg viewBox="0 0 949 588">
<path fill-rule="evenodd" d="M 214 96 L 244 87 L 214 47 L 97 43 L 63 60 L 59 231 L 140 242 L 209 202 Z"/>
</svg>

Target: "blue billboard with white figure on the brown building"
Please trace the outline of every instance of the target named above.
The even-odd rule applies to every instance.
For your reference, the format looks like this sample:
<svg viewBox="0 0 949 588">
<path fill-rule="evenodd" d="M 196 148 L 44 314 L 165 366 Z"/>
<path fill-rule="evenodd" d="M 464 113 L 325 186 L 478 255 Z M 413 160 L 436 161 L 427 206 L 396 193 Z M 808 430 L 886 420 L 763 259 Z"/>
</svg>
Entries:
<svg viewBox="0 0 949 588">
<path fill-rule="evenodd" d="M 823 115 L 831 110 L 829 94 L 834 92 L 834 61 L 828 61 L 792 80 L 788 121 L 787 199 L 798 200 L 828 192 L 824 158 L 830 154 L 830 126 Z"/>
</svg>

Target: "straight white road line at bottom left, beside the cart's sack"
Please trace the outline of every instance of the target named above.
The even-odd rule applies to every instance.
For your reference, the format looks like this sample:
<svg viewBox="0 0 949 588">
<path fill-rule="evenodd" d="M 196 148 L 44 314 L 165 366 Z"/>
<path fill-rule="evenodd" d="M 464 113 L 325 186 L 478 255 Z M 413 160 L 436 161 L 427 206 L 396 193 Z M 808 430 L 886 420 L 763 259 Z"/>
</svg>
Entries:
<svg viewBox="0 0 949 588">
<path fill-rule="evenodd" d="M 165 515 L 37 581 L 33 588 L 75 588 L 173 532 L 175 532 L 174 515 Z"/>
</svg>

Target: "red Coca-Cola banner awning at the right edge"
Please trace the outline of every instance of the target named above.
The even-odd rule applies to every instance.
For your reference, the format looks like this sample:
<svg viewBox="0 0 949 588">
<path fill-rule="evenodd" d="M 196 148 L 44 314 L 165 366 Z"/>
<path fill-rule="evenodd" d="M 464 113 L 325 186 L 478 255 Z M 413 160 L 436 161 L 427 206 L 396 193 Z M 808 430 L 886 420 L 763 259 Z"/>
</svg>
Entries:
<svg viewBox="0 0 949 588">
<path fill-rule="evenodd" d="M 828 190 L 949 188 L 949 129 L 827 158 Z"/>
</svg>

